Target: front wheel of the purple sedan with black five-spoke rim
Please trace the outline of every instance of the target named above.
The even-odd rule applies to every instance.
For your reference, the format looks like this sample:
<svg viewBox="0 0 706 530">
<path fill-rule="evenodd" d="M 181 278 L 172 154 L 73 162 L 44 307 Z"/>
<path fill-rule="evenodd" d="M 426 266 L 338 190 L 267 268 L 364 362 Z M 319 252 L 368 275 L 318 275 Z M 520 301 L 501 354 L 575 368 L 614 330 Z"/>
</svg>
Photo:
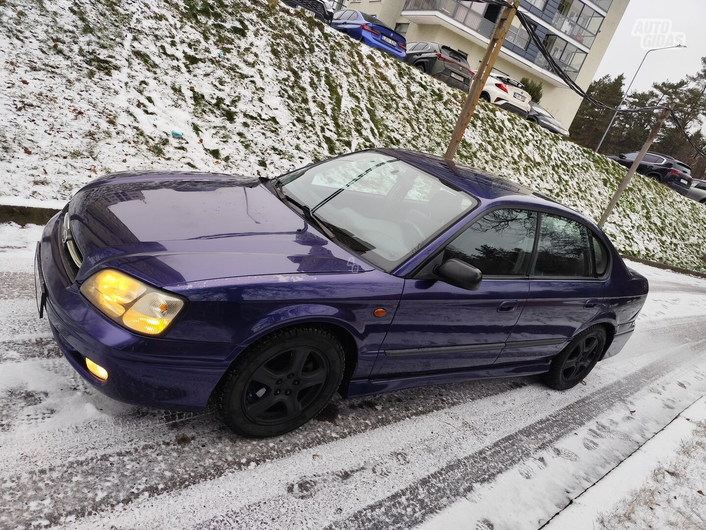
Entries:
<svg viewBox="0 0 706 530">
<path fill-rule="evenodd" d="M 239 435 L 283 435 L 328 404 L 344 363 L 340 341 L 325 329 L 275 331 L 237 358 L 216 396 L 218 413 Z"/>
</svg>

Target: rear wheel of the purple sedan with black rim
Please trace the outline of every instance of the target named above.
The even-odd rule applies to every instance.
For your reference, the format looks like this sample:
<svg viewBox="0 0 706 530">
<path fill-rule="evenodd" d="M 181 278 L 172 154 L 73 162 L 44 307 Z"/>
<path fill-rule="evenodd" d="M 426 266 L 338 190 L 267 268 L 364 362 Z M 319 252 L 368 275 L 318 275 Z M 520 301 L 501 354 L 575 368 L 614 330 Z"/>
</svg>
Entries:
<svg viewBox="0 0 706 530">
<path fill-rule="evenodd" d="M 603 326 L 587 329 L 551 361 L 544 382 L 556 390 L 575 387 L 593 370 L 605 346 L 606 330 Z"/>
</svg>

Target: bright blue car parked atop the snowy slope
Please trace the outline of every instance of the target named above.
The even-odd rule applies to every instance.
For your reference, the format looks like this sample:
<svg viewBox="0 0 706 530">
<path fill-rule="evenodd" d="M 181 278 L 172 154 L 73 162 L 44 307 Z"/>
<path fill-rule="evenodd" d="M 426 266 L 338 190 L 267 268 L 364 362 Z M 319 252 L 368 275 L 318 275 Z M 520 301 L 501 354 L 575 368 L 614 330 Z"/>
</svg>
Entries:
<svg viewBox="0 0 706 530">
<path fill-rule="evenodd" d="M 383 52 L 405 60 L 407 55 L 407 40 L 395 30 L 388 28 L 378 18 L 357 9 L 343 9 L 333 13 L 331 27 L 347 33 L 355 40 L 366 45 L 381 49 Z"/>
</svg>

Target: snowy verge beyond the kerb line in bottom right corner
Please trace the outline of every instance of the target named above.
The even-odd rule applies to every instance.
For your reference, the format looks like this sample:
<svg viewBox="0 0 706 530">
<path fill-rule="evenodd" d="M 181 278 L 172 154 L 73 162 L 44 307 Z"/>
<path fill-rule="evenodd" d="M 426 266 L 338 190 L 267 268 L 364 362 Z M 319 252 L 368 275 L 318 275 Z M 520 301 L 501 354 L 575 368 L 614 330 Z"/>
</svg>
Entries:
<svg viewBox="0 0 706 530">
<path fill-rule="evenodd" d="M 701 530 L 705 493 L 706 398 L 701 397 L 546 529 Z"/>
</svg>

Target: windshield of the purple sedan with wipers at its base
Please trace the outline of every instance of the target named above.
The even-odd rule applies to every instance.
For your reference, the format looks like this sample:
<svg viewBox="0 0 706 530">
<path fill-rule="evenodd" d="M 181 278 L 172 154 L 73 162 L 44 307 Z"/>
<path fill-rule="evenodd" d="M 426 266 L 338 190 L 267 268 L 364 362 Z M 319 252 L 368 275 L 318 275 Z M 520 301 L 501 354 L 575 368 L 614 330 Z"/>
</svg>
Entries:
<svg viewBox="0 0 706 530">
<path fill-rule="evenodd" d="M 384 271 L 424 247 L 477 201 L 429 173 L 376 151 L 325 160 L 280 177 L 342 246 Z M 305 209 L 306 209 L 305 208 Z"/>
</svg>

